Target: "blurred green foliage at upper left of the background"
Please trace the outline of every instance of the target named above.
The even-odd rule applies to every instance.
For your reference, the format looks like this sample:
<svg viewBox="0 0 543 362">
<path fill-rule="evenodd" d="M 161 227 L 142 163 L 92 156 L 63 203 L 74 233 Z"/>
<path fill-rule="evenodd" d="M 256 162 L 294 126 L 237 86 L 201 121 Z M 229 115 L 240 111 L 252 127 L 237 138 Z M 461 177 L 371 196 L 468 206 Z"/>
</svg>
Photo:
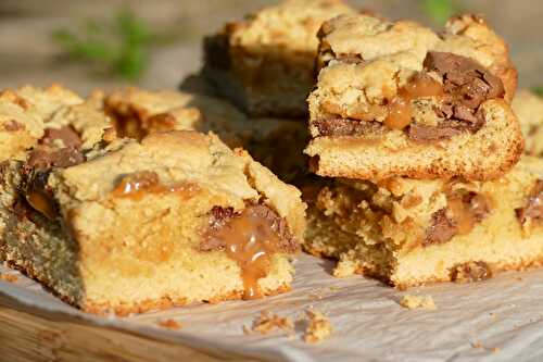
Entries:
<svg viewBox="0 0 543 362">
<path fill-rule="evenodd" d="M 56 29 L 52 39 L 74 60 L 105 66 L 111 74 L 134 82 L 149 66 L 151 46 L 175 37 L 152 34 L 143 20 L 123 8 L 110 20 L 89 20 L 76 30 Z"/>
</svg>

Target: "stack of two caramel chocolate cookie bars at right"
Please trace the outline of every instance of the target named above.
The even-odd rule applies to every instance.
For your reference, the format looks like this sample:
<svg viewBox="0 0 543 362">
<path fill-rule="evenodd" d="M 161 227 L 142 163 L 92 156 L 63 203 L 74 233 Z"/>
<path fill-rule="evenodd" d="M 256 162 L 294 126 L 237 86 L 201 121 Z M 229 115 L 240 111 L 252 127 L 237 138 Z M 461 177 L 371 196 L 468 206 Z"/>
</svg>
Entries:
<svg viewBox="0 0 543 362">
<path fill-rule="evenodd" d="M 319 38 L 305 152 L 333 178 L 305 191 L 305 249 L 397 287 L 542 264 L 543 161 L 520 160 L 516 71 L 484 21 L 343 15 Z"/>
</svg>

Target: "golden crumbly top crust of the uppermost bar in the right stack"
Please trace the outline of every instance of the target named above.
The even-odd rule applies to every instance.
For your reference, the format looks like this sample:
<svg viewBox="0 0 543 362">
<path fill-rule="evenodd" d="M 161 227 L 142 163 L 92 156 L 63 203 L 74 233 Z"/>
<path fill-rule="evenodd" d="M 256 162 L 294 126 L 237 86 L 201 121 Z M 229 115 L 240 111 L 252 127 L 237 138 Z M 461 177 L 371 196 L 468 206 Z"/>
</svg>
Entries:
<svg viewBox="0 0 543 362">
<path fill-rule="evenodd" d="M 340 15 L 323 24 L 319 38 L 320 66 L 352 57 L 363 61 L 388 57 L 393 62 L 405 53 L 421 64 L 428 51 L 451 52 L 471 58 L 500 76 L 507 100 L 515 93 L 517 73 L 507 46 L 476 15 L 452 17 L 441 35 L 411 21 L 391 23 L 367 14 Z"/>
</svg>

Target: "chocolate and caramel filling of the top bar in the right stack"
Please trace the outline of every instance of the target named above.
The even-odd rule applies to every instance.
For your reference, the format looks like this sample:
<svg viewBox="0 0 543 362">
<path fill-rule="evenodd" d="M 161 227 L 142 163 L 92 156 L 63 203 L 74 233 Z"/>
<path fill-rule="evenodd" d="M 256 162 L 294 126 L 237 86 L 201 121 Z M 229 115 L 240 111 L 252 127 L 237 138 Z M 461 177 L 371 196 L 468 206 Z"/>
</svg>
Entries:
<svg viewBox="0 0 543 362">
<path fill-rule="evenodd" d="M 440 80 L 435 80 L 431 75 Z M 382 104 L 352 104 L 348 111 L 331 101 L 321 103 L 323 118 L 314 120 L 319 136 L 375 136 L 372 127 L 364 124 L 379 123 L 386 129 L 404 130 L 416 142 L 451 139 L 464 132 L 478 132 L 485 123 L 480 105 L 489 100 L 503 98 L 504 86 L 500 77 L 491 74 L 476 61 L 444 52 L 430 51 L 424 70 L 395 92 L 383 89 Z M 434 98 L 430 111 L 435 123 L 417 122 L 414 100 Z M 333 124 L 331 124 L 333 123 Z M 377 135 L 379 136 L 379 135 Z"/>
</svg>

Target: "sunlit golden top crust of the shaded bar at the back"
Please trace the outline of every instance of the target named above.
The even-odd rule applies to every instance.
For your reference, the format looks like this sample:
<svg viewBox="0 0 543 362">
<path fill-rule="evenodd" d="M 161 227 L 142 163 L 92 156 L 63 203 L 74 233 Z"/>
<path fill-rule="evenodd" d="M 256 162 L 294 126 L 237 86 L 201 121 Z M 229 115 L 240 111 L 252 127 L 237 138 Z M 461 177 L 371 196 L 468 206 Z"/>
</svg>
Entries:
<svg viewBox="0 0 543 362">
<path fill-rule="evenodd" d="M 354 10 L 341 0 L 288 0 L 261 10 L 243 22 L 227 25 L 230 45 L 249 51 L 258 46 L 287 46 L 291 51 L 315 53 L 323 22 Z"/>
</svg>

